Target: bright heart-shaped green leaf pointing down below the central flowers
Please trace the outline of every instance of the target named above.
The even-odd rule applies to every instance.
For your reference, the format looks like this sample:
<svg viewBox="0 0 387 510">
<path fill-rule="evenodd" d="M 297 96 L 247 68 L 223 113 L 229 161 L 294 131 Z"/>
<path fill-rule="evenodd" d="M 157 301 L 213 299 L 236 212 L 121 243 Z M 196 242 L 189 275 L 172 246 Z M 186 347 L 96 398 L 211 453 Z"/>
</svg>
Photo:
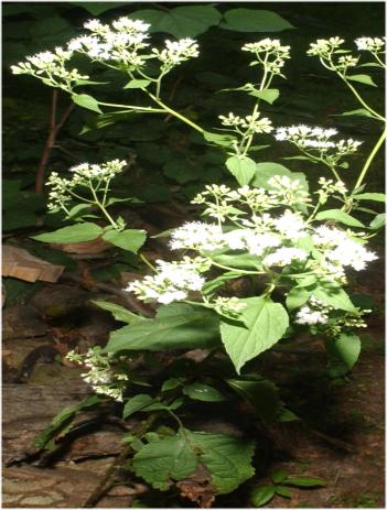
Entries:
<svg viewBox="0 0 387 510">
<path fill-rule="evenodd" d="M 240 321 L 247 327 L 224 318 L 221 321 L 222 341 L 238 373 L 246 361 L 273 346 L 289 326 L 288 314 L 281 304 L 264 296 L 240 301 L 247 305 L 240 313 Z"/>
</svg>

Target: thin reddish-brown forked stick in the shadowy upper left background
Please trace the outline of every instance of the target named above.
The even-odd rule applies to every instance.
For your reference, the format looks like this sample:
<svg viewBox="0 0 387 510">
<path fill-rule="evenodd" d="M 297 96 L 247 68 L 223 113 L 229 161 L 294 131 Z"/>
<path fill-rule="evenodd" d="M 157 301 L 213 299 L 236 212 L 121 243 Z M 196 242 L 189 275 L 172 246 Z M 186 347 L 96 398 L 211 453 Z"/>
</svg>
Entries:
<svg viewBox="0 0 387 510">
<path fill-rule="evenodd" d="M 56 122 L 57 95 L 58 95 L 58 91 L 54 89 L 52 94 L 52 100 L 51 100 L 49 134 L 45 141 L 42 158 L 39 162 L 39 166 L 36 171 L 36 177 L 35 177 L 35 192 L 36 193 L 43 193 L 44 191 L 45 169 L 50 160 L 51 151 L 53 150 L 55 145 L 57 133 L 60 132 L 63 124 L 68 119 L 75 106 L 74 102 L 72 102 L 64 111 L 61 120 Z"/>
</svg>

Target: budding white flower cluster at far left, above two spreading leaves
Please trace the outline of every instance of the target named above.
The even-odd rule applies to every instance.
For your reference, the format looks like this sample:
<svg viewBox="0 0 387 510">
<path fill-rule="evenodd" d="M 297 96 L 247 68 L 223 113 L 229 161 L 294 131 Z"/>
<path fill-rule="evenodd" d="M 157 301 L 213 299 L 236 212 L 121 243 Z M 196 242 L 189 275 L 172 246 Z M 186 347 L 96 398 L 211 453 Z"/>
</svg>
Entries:
<svg viewBox="0 0 387 510">
<path fill-rule="evenodd" d="M 72 191 L 76 186 L 89 186 L 90 182 L 108 184 L 109 181 L 120 173 L 126 166 L 126 161 L 112 160 L 103 164 L 80 163 L 73 166 L 69 171 L 73 177 L 60 177 L 57 172 L 52 172 L 46 185 L 51 187 L 47 207 L 50 210 L 56 210 L 57 207 L 64 207 L 72 199 Z"/>
</svg>

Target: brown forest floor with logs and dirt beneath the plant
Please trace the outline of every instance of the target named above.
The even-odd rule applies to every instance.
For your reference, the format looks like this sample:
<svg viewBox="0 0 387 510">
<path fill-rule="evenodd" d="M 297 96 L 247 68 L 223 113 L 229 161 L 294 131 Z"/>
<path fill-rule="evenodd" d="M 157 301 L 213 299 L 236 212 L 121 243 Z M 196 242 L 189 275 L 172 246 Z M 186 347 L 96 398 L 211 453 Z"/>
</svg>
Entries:
<svg viewBox="0 0 387 510">
<path fill-rule="evenodd" d="M 258 484 L 286 469 L 290 475 L 321 477 L 326 487 L 291 489 L 291 498 L 276 496 L 268 508 L 384 508 L 385 475 L 385 352 L 384 258 L 356 275 L 356 292 L 375 302 L 369 327 L 362 335 L 363 352 L 345 379 L 324 375 L 324 352 L 315 347 L 302 356 L 276 352 L 262 358 L 281 388 L 288 406 L 302 419 L 281 424 L 269 458 L 257 468 Z M 103 345 L 117 324 L 89 300 L 111 301 L 76 284 L 44 284 L 23 305 L 3 310 L 3 460 L 20 457 L 31 441 L 64 405 L 82 400 L 88 388 L 79 369 L 63 357 L 75 346 Z M 117 300 L 116 300 L 117 301 Z M 118 300 L 119 302 L 119 300 Z M 50 355 L 55 347 L 58 358 Z M 51 361 L 51 362 L 49 362 Z M 21 370 L 24 376 L 20 378 Z M 82 371 L 82 370 L 80 370 Z M 111 424 L 88 431 L 49 465 L 20 463 L 3 469 L 4 508 L 80 507 L 119 452 L 121 431 Z M 259 437 L 257 437 L 259 443 Z M 33 459 L 32 459 L 33 460 Z M 257 463 L 259 466 L 259 462 Z M 79 481 L 83 490 L 79 491 Z M 257 478 L 254 484 L 257 485 Z M 129 508 L 144 490 L 140 484 L 118 485 L 98 507 Z M 162 508 L 165 504 L 155 503 Z M 183 502 L 184 507 L 190 507 Z M 175 508 L 175 504 L 172 504 Z M 244 491 L 218 498 L 216 508 L 248 508 Z"/>
</svg>

